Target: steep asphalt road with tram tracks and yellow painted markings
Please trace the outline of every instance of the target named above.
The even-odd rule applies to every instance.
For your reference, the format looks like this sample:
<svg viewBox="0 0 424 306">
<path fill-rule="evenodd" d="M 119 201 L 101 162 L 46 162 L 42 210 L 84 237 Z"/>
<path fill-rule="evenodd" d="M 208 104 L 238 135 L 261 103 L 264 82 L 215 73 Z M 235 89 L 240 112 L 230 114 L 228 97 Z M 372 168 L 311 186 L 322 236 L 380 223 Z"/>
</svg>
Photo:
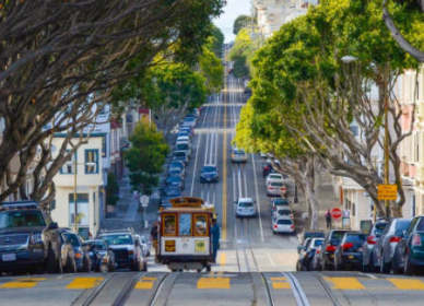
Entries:
<svg viewBox="0 0 424 306">
<path fill-rule="evenodd" d="M 222 228 L 212 272 L 168 272 L 150 260 L 149 272 L 44 274 L 0 278 L 0 305 L 423 305 L 424 278 L 362 272 L 292 272 L 296 235 L 273 235 L 262 163 L 249 155 L 231 163 L 232 139 L 243 106 L 242 84 L 203 107 L 196 128 L 185 195 L 215 205 Z M 217 184 L 200 184 L 205 164 Z M 236 219 L 238 197 L 256 200 L 259 216 Z"/>
</svg>

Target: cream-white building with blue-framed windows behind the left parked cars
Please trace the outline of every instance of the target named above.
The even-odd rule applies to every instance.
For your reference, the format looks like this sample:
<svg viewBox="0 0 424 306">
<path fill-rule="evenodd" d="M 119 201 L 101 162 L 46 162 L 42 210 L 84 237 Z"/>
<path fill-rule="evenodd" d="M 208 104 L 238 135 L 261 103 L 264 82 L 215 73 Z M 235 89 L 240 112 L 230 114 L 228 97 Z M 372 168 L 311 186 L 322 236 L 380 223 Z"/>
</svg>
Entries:
<svg viewBox="0 0 424 306">
<path fill-rule="evenodd" d="M 68 161 L 54 177 L 56 186 L 55 209 L 51 217 L 61 227 L 75 225 L 74 193 L 76 193 L 76 215 L 79 232 L 83 237 L 89 232 L 96 235 L 104 211 L 104 152 L 105 133 L 93 133 L 86 137 L 72 160 Z M 59 151 L 64 136 L 58 134 L 52 141 L 52 154 Z M 75 139 L 76 143 L 78 139 Z M 56 153 L 57 154 L 57 153 Z M 76 169 L 75 169 L 76 160 Z"/>
</svg>

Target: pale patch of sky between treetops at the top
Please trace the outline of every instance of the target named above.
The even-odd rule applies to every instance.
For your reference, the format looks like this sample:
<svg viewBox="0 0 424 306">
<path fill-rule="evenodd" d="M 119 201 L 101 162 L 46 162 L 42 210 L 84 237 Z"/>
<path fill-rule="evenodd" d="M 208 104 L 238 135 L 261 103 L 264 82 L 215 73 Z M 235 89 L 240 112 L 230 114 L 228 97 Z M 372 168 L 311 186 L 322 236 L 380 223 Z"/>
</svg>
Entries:
<svg viewBox="0 0 424 306">
<path fill-rule="evenodd" d="M 234 40 L 233 23 L 238 15 L 250 15 L 251 12 L 250 0 L 227 0 L 227 4 L 224 8 L 224 13 L 219 19 L 214 20 L 214 23 L 225 35 L 225 42 Z"/>
</svg>

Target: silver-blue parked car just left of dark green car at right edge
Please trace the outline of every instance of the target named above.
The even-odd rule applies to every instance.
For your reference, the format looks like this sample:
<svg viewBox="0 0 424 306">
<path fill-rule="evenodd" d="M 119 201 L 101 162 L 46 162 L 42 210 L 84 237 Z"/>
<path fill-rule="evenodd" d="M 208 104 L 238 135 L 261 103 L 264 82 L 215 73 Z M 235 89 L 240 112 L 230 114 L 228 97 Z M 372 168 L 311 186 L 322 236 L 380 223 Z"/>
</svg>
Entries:
<svg viewBox="0 0 424 306">
<path fill-rule="evenodd" d="M 396 217 L 390 221 L 374 248 L 376 266 L 380 273 L 389 273 L 394 249 L 403 237 L 403 232 L 410 226 L 411 219 Z"/>
</svg>

